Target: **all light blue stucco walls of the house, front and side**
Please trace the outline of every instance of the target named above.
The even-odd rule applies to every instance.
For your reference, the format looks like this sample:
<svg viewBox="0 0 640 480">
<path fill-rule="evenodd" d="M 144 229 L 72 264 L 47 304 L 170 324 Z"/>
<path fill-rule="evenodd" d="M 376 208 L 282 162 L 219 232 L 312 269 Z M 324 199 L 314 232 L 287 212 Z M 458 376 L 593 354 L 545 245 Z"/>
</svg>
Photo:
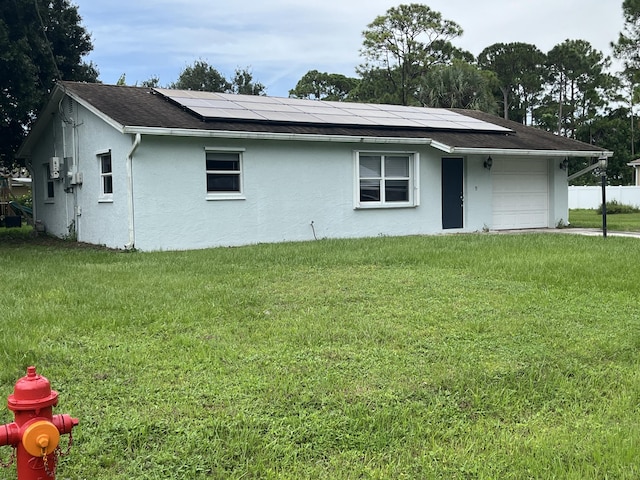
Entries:
<svg viewBox="0 0 640 480">
<path fill-rule="evenodd" d="M 132 159 L 131 212 L 126 164 L 133 135 L 120 133 L 68 99 L 63 107 L 64 118 L 73 122 L 54 115 L 31 159 L 40 176 L 34 180 L 37 218 L 57 236 L 73 228 L 79 241 L 125 248 L 132 213 L 134 246 L 141 250 L 443 233 L 441 162 L 453 156 L 428 145 L 142 135 Z M 207 198 L 207 148 L 242 152 L 243 199 Z M 104 202 L 97 154 L 109 150 L 114 193 L 112 201 Z M 355 208 L 356 151 L 417 153 L 419 205 Z M 47 202 L 43 169 L 53 155 L 66 158 L 63 172 L 81 172 L 82 182 L 55 181 L 55 197 Z M 491 229 L 493 182 L 483 166 L 486 156 L 462 158 L 464 227 L 446 232 Z M 546 161 L 547 226 L 554 227 L 567 218 L 566 172 L 553 158 Z"/>
</svg>

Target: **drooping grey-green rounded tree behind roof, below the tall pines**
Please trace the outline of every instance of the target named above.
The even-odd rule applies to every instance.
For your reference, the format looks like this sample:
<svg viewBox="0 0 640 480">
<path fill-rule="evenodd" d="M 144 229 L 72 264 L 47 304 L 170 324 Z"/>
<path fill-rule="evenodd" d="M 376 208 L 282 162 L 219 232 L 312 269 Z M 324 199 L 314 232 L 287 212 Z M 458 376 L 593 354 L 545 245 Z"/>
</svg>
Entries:
<svg viewBox="0 0 640 480">
<path fill-rule="evenodd" d="M 426 107 L 469 108 L 495 113 L 497 104 L 492 72 L 483 72 L 461 60 L 452 65 L 438 65 L 422 78 L 418 98 Z"/>
</svg>

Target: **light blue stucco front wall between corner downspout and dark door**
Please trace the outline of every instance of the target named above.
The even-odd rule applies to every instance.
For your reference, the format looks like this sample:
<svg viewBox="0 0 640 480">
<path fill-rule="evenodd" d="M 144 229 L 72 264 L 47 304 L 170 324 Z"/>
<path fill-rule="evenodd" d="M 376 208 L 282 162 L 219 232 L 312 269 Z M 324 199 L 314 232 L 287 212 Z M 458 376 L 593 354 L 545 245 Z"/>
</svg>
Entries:
<svg viewBox="0 0 640 480">
<path fill-rule="evenodd" d="M 208 200 L 205 148 L 242 152 L 243 199 Z M 420 205 L 355 209 L 354 144 L 143 137 L 133 160 L 136 247 L 188 249 L 440 231 L 439 155 L 420 154 Z"/>
</svg>

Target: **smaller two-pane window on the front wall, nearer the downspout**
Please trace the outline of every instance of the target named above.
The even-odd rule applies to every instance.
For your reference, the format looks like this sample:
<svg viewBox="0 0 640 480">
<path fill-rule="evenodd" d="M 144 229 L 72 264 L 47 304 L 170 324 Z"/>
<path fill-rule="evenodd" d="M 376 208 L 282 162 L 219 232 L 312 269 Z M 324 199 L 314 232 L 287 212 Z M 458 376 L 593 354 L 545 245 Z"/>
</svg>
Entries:
<svg viewBox="0 0 640 480">
<path fill-rule="evenodd" d="M 206 169 L 208 198 L 242 198 L 240 152 L 207 151 Z"/>
</svg>

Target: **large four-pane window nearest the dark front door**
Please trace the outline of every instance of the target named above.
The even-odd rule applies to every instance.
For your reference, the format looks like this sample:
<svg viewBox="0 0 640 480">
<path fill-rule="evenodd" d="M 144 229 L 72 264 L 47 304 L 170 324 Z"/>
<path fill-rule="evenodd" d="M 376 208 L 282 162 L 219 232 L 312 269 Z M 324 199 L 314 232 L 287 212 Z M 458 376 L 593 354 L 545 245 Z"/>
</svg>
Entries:
<svg viewBox="0 0 640 480">
<path fill-rule="evenodd" d="M 358 152 L 356 207 L 416 206 L 416 157 L 413 153 Z"/>
</svg>

